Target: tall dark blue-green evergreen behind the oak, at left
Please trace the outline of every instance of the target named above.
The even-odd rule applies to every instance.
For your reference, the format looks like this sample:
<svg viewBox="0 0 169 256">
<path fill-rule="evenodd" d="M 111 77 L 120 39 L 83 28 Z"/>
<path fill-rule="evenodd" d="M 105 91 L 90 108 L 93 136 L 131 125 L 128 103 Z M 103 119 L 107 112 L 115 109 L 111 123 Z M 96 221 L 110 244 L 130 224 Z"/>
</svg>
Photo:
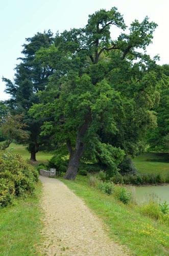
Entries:
<svg viewBox="0 0 169 256">
<path fill-rule="evenodd" d="M 40 126 L 43 120 L 30 117 L 28 111 L 34 103 L 39 103 L 37 93 L 45 89 L 48 78 L 53 74 L 53 69 L 44 67 L 40 60 L 35 57 L 39 49 L 47 49 L 53 44 L 53 33 L 49 30 L 44 33 L 37 33 L 33 37 L 26 38 L 23 45 L 23 57 L 18 58 L 21 62 L 15 68 L 14 81 L 3 78 L 6 82 L 6 93 L 11 98 L 6 101 L 12 114 L 23 114 L 23 122 L 27 124 L 29 139 L 26 141 L 28 150 L 31 153 L 31 161 L 36 161 L 36 153 L 44 143 L 39 136 Z"/>
</svg>

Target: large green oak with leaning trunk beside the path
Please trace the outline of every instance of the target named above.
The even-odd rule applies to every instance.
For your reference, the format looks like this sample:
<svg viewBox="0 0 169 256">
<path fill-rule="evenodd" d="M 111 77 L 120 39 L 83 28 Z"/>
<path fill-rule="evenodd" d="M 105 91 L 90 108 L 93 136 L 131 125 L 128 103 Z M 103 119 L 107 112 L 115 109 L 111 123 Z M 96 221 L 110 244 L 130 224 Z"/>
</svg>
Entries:
<svg viewBox="0 0 169 256">
<path fill-rule="evenodd" d="M 121 29 L 112 39 L 111 29 Z M 89 15 L 84 28 L 64 31 L 48 49 L 37 52 L 44 68 L 52 67 L 40 104 L 30 114 L 46 118 L 43 135 L 53 134 L 59 149 L 67 145 L 65 179 L 75 179 L 81 158 L 107 164 L 111 173 L 125 154 L 143 148 L 148 127 L 156 125 L 160 76 L 146 50 L 156 28 L 148 17 L 130 25 L 113 7 Z"/>
</svg>

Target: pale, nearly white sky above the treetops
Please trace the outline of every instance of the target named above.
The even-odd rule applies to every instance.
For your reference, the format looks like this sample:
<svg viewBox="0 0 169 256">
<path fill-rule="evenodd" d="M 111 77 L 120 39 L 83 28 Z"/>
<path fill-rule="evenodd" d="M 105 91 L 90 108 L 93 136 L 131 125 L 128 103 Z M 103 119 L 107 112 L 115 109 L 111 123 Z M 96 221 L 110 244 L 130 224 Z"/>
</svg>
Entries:
<svg viewBox="0 0 169 256">
<path fill-rule="evenodd" d="M 158 24 L 153 45 L 148 53 L 160 55 L 160 64 L 169 63 L 168 54 L 168 9 L 167 0 L 0 0 L 0 78 L 12 79 L 16 58 L 21 54 L 21 45 L 26 37 L 36 32 L 51 29 L 56 33 L 65 29 L 83 27 L 88 14 L 116 6 L 124 14 L 127 25 L 135 19 L 140 21 L 148 15 Z M 117 31 L 112 35 L 117 35 Z M 0 100 L 8 98 L 0 80 Z"/>
</svg>

